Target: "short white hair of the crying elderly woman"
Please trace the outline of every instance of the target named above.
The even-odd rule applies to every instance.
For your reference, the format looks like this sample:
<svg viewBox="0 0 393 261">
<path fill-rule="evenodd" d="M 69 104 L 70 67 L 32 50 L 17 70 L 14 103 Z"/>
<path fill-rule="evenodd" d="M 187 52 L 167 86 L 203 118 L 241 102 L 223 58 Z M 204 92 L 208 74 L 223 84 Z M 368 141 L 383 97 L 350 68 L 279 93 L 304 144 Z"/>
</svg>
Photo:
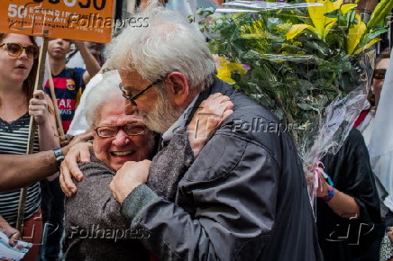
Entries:
<svg viewBox="0 0 393 261">
<path fill-rule="evenodd" d="M 103 79 L 92 86 L 90 92 L 87 95 L 85 105 L 85 116 L 86 121 L 90 127 L 94 126 L 98 111 L 110 100 L 121 95 L 122 92 L 119 89 L 120 76 L 116 70 L 107 72 L 103 75 Z"/>
</svg>

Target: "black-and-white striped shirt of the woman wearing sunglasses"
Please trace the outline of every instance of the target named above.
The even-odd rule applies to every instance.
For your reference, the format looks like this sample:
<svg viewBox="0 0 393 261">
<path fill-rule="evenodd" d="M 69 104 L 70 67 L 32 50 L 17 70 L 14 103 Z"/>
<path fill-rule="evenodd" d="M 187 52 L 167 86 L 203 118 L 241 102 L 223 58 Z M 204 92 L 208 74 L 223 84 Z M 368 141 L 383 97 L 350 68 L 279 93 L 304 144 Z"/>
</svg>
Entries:
<svg viewBox="0 0 393 261">
<path fill-rule="evenodd" d="M 29 137 L 29 113 L 24 114 L 16 121 L 3 121 L 0 118 L 0 154 L 26 154 L 27 139 Z M 34 139 L 34 152 L 40 151 L 38 136 Z M 0 166 L 0 175 L 1 175 Z M 0 215 L 11 225 L 16 224 L 18 215 L 20 190 L 0 193 Z M 24 220 L 32 217 L 41 204 L 40 184 L 35 183 L 27 190 Z"/>
</svg>

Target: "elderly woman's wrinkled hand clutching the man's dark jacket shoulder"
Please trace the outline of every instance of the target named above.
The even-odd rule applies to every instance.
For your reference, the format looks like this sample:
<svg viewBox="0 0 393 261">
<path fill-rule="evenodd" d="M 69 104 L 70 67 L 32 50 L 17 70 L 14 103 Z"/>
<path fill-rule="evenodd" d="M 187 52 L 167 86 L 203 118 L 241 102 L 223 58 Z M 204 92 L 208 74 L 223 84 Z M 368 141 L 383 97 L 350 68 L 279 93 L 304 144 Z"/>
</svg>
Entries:
<svg viewBox="0 0 393 261">
<path fill-rule="evenodd" d="M 212 133 L 233 113 L 233 103 L 228 96 L 212 94 L 203 101 L 188 125 L 188 139 L 194 157 L 204 148 Z"/>
</svg>

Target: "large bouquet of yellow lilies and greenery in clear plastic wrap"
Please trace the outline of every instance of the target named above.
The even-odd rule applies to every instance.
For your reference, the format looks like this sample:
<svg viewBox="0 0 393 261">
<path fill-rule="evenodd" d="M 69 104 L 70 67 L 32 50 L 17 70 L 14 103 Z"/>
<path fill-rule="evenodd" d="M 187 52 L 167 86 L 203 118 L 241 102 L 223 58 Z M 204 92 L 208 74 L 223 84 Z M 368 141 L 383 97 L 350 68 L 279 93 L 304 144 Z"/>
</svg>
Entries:
<svg viewBox="0 0 393 261">
<path fill-rule="evenodd" d="M 288 131 L 312 185 L 316 162 L 338 151 L 368 106 L 373 45 L 392 3 L 382 0 L 367 23 L 343 0 L 234 1 L 197 11 L 217 76 L 295 126 Z"/>
</svg>

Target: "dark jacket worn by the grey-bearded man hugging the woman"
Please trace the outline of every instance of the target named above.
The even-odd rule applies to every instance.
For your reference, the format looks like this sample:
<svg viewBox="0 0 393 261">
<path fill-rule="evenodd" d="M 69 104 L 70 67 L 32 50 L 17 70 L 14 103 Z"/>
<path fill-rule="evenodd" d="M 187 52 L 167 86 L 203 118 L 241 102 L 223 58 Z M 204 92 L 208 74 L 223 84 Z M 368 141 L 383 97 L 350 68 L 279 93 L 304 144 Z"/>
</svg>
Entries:
<svg viewBox="0 0 393 261">
<path fill-rule="evenodd" d="M 141 241 L 160 260 L 321 260 L 292 139 L 271 112 L 220 80 L 196 106 L 218 92 L 234 112 L 179 181 L 175 202 L 142 184 L 123 216 L 150 231 Z"/>
</svg>

